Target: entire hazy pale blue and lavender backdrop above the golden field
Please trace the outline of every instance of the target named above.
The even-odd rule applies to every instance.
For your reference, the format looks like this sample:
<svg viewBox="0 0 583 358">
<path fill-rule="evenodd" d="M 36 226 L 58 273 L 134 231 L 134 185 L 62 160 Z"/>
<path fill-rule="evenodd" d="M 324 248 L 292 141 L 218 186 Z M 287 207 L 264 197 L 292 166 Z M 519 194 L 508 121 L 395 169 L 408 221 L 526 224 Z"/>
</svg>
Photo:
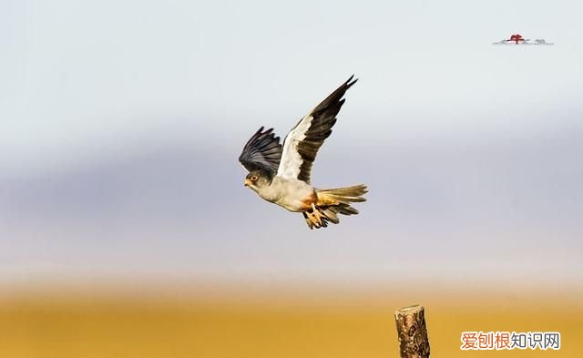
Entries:
<svg viewBox="0 0 583 358">
<path fill-rule="evenodd" d="M 580 279 L 581 10 L 0 0 L 3 274 L 386 279 L 414 240 L 423 277 Z M 515 33 L 555 46 L 491 45 Z M 312 235 L 236 158 L 352 74 L 314 182 L 363 181 L 370 202 Z"/>
</svg>

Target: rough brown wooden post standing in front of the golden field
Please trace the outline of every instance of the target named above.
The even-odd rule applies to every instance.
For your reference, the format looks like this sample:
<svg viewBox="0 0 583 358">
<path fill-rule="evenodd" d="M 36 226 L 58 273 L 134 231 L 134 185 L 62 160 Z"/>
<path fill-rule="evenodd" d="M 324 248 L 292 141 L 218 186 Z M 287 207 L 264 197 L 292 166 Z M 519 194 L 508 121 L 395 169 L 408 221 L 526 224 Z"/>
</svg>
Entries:
<svg viewBox="0 0 583 358">
<path fill-rule="evenodd" d="M 424 307 L 408 306 L 394 312 L 401 358 L 429 358 Z"/>
</svg>

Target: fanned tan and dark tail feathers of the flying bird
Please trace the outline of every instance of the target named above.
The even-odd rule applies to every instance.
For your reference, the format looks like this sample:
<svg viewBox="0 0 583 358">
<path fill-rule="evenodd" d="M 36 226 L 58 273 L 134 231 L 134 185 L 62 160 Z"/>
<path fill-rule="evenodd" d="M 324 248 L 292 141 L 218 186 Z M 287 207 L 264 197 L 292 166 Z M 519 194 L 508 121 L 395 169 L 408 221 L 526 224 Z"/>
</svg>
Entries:
<svg viewBox="0 0 583 358">
<path fill-rule="evenodd" d="M 368 189 L 363 184 L 355 185 L 347 188 L 337 189 L 316 189 L 318 201 L 316 202 L 316 210 L 321 216 L 321 223 L 310 220 L 306 213 L 303 214 L 310 229 L 325 228 L 328 226 L 328 221 L 337 224 L 340 222 L 338 214 L 356 215 L 358 210 L 354 209 L 350 204 L 352 202 L 366 201 L 363 195 L 368 192 Z"/>
</svg>

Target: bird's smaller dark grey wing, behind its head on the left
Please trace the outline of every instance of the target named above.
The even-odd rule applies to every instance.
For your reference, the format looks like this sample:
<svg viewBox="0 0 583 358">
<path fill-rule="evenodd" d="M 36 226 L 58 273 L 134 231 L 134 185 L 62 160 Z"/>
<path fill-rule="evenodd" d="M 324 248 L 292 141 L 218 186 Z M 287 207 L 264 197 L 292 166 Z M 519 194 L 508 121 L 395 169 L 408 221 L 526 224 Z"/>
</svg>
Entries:
<svg viewBox="0 0 583 358">
<path fill-rule="evenodd" d="M 280 138 L 275 137 L 273 128 L 263 131 L 263 127 L 249 139 L 239 156 L 239 161 L 245 169 L 249 171 L 261 169 L 270 177 L 275 176 L 280 159 Z"/>
</svg>

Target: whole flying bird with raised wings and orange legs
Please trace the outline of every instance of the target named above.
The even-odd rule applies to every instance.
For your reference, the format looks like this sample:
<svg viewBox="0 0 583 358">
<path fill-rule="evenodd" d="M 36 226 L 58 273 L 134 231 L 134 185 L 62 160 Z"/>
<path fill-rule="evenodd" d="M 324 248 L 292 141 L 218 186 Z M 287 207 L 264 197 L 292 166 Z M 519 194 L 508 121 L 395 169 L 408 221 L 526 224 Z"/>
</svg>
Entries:
<svg viewBox="0 0 583 358">
<path fill-rule="evenodd" d="M 239 161 L 249 171 L 244 185 L 262 199 L 282 208 L 301 212 L 308 227 L 326 228 L 338 224 L 339 214 L 355 215 L 353 202 L 366 201 L 368 192 L 359 184 L 336 189 L 312 187 L 312 164 L 324 140 L 332 134 L 344 94 L 353 87 L 354 75 L 314 107 L 292 128 L 280 144 L 273 128 L 259 128 L 243 147 Z"/>
</svg>

